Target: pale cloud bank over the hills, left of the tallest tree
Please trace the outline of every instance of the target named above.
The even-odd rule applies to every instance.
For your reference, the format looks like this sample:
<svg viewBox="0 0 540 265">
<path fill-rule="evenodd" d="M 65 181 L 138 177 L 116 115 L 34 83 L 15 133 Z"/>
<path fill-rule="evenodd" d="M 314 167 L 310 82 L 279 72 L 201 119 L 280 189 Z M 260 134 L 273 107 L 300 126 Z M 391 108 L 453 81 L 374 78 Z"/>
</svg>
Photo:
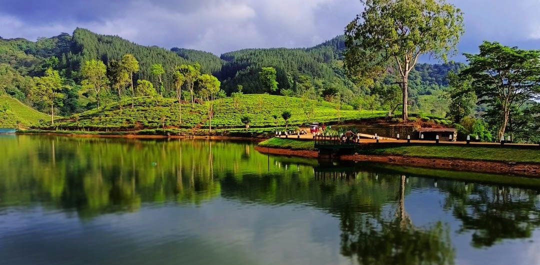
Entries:
<svg viewBox="0 0 540 265">
<path fill-rule="evenodd" d="M 79 5 L 83 8 L 42 9 L 49 13 L 49 20 L 30 16 L 23 6 L 0 10 L 0 23 L 5 25 L 0 35 L 36 39 L 71 32 L 79 26 L 144 45 L 189 47 L 219 54 L 246 47 L 315 45 L 341 34 L 361 11 L 359 0 L 139 0 L 89 6 L 88 13 L 117 9 L 92 19 L 81 10 L 85 2 Z"/>
</svg>

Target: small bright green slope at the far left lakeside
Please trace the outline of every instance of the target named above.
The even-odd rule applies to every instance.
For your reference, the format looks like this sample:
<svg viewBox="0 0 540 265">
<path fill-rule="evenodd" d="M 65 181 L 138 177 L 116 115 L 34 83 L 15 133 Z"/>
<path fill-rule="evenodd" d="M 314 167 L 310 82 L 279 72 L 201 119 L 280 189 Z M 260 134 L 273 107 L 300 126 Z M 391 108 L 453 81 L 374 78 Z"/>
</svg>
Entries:
<svg viewBox="0 0 540 265">
<path fill-rule="evenodd" d="M 0 96 L 0 127 L 15 128 L 38 124 L 39 120 L 48 121 L 51 117 L 24 105 L 12 97 Z"/>
</svg>

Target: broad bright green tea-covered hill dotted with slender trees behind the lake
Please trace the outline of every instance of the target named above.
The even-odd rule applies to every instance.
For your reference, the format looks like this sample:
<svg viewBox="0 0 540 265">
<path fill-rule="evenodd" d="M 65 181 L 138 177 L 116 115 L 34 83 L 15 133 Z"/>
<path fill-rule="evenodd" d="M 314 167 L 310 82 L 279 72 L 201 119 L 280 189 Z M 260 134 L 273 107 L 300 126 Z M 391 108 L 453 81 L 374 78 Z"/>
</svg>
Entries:
<svg viewBox="0 0 540 265">
<path fill-rule="evenodd" d="M 313 103 L 313 101 L 311 101 Z M 182 130 L 205 130 L 210 127 L 210 121 L 206 115 L 206 105 L 182 104 L 182 123 L 179 123 L 178 104 L 173 99 L 139 97 L 135 99 L 135 107 L 130 107 L 131 101 L 123 101 L 123 109 L 118 104 L 112 104 L 80 113 L 75 117 L 64 118 L 55 121 L 55 129 L 69 131 L 140 131 L 149 129 L 169 128 Z M 266 128 L 272 131 L 275 121 L 272 117 L 278 115 L 278 126 L 285 126 L 281 118 L 283 111 L 290 111 L 292 118 L 290 126 L 299 126 L 307 123 L 308 119 L 302 110 L 305 105 L 299 98 L 287 98 L 269 95 L 244 95 L 237 108 L 232 98 L 223 98 L 214 101 L 215 114 L 212 126 L 218 130 L 245 130 L 241 123 L 242 115 L 249 115 L 252 119 L 250 130 Z M 334 104 L 323 101 L 316 103 L 315 114 L 312 121 L 321 123 L 335 123 L 338 121 L 338 111 Z M 341 121 L 361 120 L 384 116 L 383 111 L 350 111 L 341 110 Z M 52 126 L 40 126 L 37 128 L 51 129 Z"/>
</svg>

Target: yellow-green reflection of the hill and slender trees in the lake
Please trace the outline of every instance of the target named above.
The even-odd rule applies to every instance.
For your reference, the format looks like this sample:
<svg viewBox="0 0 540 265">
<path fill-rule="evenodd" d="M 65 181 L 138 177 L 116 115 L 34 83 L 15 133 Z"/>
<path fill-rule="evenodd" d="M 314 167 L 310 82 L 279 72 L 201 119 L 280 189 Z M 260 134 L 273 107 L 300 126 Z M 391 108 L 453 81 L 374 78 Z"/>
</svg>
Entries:
<svg viewBox="0 0 540 265">
<path fill-rule="evenodd" d="M 21 136 L 3 146 L 2 206 L 39 202 L 84 217 L 142 202 L 199 204 L 221 194 L 226 176 L 239 181 L 269 170 L 266 155 L 227 141 Z"/>
</svg>

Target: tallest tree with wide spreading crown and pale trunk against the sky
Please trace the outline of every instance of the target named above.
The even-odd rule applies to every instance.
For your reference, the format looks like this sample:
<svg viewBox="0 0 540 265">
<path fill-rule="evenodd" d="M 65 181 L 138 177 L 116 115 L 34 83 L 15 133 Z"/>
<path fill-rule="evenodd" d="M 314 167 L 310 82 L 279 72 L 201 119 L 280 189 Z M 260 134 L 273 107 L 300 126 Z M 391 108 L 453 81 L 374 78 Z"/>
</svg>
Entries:
<svg viewBox="0 0 540 265">
<path fill-rule="evenodd" d="M 424 53 L 446 60 L 463 35 L 463 13 L 444 0 L 366 0 L 347 25 L 345 67 L 357 82 L 389 66 L 402 80 L 403 119 L 408 118 L 408 77 Z"/>
</svg>

